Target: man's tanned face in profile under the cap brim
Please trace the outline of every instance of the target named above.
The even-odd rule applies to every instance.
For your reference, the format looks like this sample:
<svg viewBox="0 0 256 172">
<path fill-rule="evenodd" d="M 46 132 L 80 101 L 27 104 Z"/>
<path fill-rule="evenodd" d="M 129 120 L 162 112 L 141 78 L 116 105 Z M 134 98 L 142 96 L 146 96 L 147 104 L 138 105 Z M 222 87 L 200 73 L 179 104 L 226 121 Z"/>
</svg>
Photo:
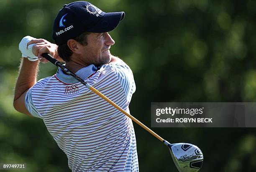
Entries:
<svg viewBox="0 0 256 172">
<path fill-rule="evenodd" d="M 105 33 L 90 33 L 87 35 L 87 45 L 83 46 L 83 57 L 87 63 L 102 65 L 111 60 L 110 46 L 115 41 L 111 36 Z"/>
</svg>

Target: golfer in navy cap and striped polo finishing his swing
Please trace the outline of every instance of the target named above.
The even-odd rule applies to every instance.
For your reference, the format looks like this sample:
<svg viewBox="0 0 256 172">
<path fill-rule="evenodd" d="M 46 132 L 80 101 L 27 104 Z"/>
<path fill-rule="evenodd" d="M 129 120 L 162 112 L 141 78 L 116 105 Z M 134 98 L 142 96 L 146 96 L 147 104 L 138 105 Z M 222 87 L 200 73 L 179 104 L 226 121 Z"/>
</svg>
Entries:
<svg viewBox="0 0 256 172">
<path fill-rule="evenodd" d="M 133 73 L 110 54 L 115 41 L 108 34 L 123 18 L 124 12 L 104 13 L 85 1 L 70 3 L 54 20 L 56 45 L 29 36 L 19 45 L 23 59 L 13 105 L 44 120 L 67 154 L 72 172 L 138 171 L 133 124 L 60 68 L 54 76 L 36 82 L 37 57 L 42 62 L 46 62 L 43 53 L 62 58 L 67 68 L 129 112 L 136 89 Z"/>
</svg>

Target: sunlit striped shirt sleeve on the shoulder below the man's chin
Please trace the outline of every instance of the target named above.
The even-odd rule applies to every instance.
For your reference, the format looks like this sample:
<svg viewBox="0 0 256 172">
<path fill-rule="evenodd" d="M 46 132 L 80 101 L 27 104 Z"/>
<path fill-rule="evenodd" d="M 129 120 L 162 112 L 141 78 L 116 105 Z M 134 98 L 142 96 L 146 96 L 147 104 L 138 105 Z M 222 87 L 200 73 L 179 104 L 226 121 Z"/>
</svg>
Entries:
<svg viewBox="0 0 256 172">
<path fill-rule="evenodd" d="M 110 65 L 115 69 L 117 73 L 127 101 L 131 102 L 132 95 L 136 90 L 131 68 L 125 63 L 110 63 Z"/>
</svg>

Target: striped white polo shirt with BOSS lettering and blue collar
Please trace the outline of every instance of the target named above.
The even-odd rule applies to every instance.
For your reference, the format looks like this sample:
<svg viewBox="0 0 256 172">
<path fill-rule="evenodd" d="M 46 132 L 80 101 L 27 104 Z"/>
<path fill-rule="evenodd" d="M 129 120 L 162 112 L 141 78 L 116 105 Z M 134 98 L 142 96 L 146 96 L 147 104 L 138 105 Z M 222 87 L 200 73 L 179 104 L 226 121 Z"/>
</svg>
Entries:
<svg viewBox="0 0 256 172">
<path fill-rule="evenodd" d="M 76 74 L 129 113 L 136 86 L 125 63 L 90 65 Z M 29 89 L 25 101 L 67 154 L 72 172 L 138 171 L 131 119 L 60 68 Z"/>
</svg>

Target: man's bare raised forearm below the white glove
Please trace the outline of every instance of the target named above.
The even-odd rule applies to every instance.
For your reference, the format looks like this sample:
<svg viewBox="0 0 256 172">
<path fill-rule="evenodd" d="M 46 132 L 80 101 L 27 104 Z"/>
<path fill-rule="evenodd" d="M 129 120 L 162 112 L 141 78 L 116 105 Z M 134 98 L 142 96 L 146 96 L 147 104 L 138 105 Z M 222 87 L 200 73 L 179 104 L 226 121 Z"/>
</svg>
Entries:
<svg viewBox="0 0 256 172">
<path fill-rule="evenodd" d="M 36 83 L 39 61 L 29 61 L 28 58 L 22 58 L 20 70 L 15 85 L 14 101 L 31 88 Z"/>
</svg>

